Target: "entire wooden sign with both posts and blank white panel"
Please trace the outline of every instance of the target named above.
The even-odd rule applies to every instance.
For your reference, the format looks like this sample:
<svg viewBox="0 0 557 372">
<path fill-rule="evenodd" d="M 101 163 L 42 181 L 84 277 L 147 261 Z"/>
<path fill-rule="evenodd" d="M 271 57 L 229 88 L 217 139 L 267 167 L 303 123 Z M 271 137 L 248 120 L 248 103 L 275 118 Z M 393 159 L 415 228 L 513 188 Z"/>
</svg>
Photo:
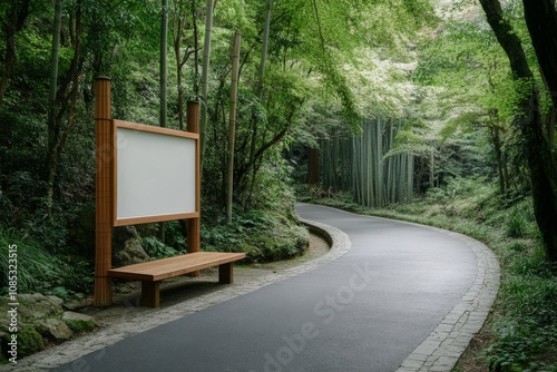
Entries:
<svg viewBox="0 0 557 372">
<path fill-rule="evenodd" d="M 187 252 L 199 251 L 199 106 L 187 104 L 186 133 L 111 119 L 110 79 L 97 78 L 95 89 L 94 305 L 108 306 L 114 226 L 187 218 Z"/>
</svg>

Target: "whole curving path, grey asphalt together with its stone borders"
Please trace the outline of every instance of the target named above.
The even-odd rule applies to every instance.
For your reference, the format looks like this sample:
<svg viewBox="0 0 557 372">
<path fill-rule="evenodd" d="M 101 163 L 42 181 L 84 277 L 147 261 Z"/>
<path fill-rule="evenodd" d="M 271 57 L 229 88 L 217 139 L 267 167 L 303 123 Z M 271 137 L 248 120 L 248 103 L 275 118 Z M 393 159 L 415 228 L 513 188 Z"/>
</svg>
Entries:
<svg viewBox="0 0 557 372">
<path fill-rule="evenodd" d="M 104 344 L 57 346 L 27 370 L 450 371 L 497 294 L 491 251 L 441 229 L 297 208 L 332 235 L 330 253 L 146 311 L 134 329 L 105 331 Z"/>
</svg>

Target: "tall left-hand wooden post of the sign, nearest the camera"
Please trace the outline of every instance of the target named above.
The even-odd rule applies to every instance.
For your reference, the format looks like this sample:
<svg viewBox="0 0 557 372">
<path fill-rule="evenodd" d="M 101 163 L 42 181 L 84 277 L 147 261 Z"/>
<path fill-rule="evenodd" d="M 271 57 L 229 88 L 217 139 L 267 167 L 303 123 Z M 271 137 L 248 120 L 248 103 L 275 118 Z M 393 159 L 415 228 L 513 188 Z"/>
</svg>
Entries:
<svg viewBox="0 0 557 372">
<path fill-rule="evenodd" d="M 94 305 L 113 304 L 108 271 L 113 256 L 113 124 L 110 120 L 110 79 L 95 81 L 95 297 Z"/>
</svg>

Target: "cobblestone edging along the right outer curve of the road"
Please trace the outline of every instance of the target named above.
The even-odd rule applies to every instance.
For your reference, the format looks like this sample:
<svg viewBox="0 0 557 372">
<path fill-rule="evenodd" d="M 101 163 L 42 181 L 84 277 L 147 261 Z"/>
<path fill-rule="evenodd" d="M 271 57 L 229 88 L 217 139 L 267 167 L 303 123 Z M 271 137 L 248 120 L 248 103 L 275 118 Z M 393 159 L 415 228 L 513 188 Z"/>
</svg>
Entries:
<svg viewBox="0 0 557 372">
<path fill-rule="evenodd" d="M 420 225 L 421 226 L 421 225 Z M 402 362 L 397 372 L 449 372 L 479 332 L 499 291 L 499 262 L 491 249 L 469 236 L 437 227 L 468 245 L 476 254 L 478 271 L 468 292 L 430 335 Z"/>
</svg>

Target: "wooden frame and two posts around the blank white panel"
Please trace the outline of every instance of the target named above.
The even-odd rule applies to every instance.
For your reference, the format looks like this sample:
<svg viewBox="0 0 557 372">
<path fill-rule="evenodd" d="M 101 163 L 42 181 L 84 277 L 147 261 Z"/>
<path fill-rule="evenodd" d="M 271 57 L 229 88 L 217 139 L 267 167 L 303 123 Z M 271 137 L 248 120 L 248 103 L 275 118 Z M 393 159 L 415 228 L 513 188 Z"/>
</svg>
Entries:
<svg viewBox="0 0 557 372">
<path fill-rule="evenodd" d="M 187 133 L 141 124 L 115 120 L 111 118 L 110 79 L 98 77 L 95 80 L 95 294 L 94 306 L 113 304 L 113 287 L 108 271 L 113 268 L 113 228 L 139 223 L 163 222 L 187 218 L 187 252 L 199 252 L 201 247 L 201 150 L 199 150 L 199 104 L 187 102 Z M 149 216 L 118 218 L 117 211 L 117 166 L 118 148 L 124 150 L 125 139 L 118 139 L 118 128 L 136 130 L 152 136 L 174 136 L 178 140 L 195 141 L 195 207 L 179 213 L 159 213 Z M 183 159 L 188 161 L 188 159 Z M 192 159 L 189 158 L 189 161 Z M 189 164 L 189 168 L 192 168 Z M 187 167 L 187 165 L 186 165 Z M 182 172 L 174 166 L 170 172 Z M 189 169 L 190 170 L 190 169 Z M 192 175 L 192 173 L 189 173 Z M 178 187 L 179 188 L 179 187 Z M 184 189 L 184 193 L 187 193 Z M 189 189 L 192 192 L 192 189 Z M 160 190 L 164 193 L 164 189 Z M 174 195 L 176 193 L 173 193 Z M 140 203 L 140 200 L 139 200 Z M 193 211 L 190 211 L 193 209 Z M 198 272 L 190 274 L 199 275 Z"/>
</svg>

